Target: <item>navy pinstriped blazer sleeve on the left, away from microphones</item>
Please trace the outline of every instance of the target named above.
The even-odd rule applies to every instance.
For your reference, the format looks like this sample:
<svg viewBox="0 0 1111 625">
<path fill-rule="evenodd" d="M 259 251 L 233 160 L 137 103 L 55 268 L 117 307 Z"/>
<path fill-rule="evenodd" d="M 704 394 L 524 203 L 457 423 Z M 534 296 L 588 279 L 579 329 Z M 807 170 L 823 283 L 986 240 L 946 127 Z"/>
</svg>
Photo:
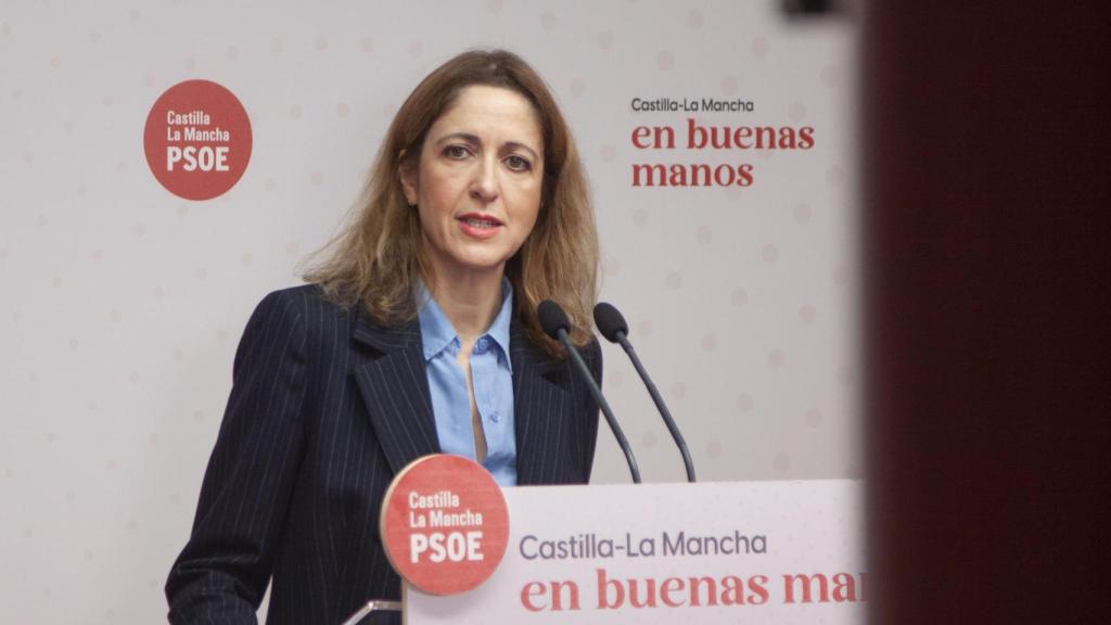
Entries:
<svg viewBox="0 0 1111 625">
<path fill-rule="evenodd" d="M 247 324 L 192 534 L 166 584 L 173 624 L 257 623 L 303 450 L 306 336 L 281 291 Z"/>
</svg>

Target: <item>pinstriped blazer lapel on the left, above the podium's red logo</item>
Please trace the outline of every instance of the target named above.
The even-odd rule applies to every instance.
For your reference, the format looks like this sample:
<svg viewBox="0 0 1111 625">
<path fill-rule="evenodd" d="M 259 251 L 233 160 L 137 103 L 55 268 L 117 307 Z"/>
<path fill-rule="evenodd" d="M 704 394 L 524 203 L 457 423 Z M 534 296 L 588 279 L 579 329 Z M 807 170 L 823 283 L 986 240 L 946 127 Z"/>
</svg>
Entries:
<svg viewBox="0 0 1111 625">
<path fill-rule="evenodd" d="M 353 373 L 393 473 L 421 456 L 439 453 L 420 323 L 413 319 L 386 328 L 360 312 L 353 340 L 374 349 Z"/>
</svg>

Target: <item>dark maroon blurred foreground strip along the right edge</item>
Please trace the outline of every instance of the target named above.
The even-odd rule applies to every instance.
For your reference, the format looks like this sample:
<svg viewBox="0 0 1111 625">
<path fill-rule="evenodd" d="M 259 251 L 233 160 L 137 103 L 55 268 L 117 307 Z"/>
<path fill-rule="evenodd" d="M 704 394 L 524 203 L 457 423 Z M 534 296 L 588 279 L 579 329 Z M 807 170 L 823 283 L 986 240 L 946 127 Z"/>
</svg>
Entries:
<svg viewBox="0 0 1111 625">
<path fill-rule="evenodd" d="M 1111 23 L 863 11 L 873 624 L 1111 623 Z"/>
</svg>

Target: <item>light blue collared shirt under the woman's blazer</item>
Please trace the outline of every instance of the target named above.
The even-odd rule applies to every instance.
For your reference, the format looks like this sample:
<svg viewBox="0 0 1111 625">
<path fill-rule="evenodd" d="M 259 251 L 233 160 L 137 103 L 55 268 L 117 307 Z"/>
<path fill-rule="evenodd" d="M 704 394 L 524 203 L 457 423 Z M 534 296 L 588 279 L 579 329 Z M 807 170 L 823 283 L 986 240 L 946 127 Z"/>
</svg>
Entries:
<svg viewBox="0 0 1111 625">
<path fill-rule="evenodd" d="M 467 374 L 459 366 L 461 344 L 456 328 L 431 294 L 417 287 L 424 368 L 432 395 L 432 415 L 440 450 L 472 460 L 474 427 L 467 393 Z M 513 287 L 501 281 L 501 310 L 471 350 L 474 403 L 486 434 L 487 457 L 482 466 L 501 486 L 517 485 L 517 437 L 513 431 L 513 367 L 509 360 L 509 324 L 513 315 Z"/>
</svg>

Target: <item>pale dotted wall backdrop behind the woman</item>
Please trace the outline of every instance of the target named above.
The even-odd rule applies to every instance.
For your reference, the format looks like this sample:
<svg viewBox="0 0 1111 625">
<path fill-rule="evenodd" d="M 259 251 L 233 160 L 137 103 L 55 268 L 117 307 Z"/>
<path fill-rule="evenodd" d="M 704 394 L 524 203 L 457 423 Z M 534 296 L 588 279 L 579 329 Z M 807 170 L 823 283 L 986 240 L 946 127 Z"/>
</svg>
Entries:
<svg viewBox="0 0 1111 625">
<path fill-rule="evenodd" d="M 552 86 L 592 180 L 602 299 L 630 319 L 707 480 L 859 477 L 851 22 L 780 2 L 4 1 L 0 9 L 0 614 L 152 623 L 250 311 L 298 282 L 397 106 L 471 47 Z M 231 191 L 167 192 L 147 113 L 191 78 L 246 107 Z M 633 98 L 741 98 L 703 125 L 810 126 L 810 150 L 634 150 Z M 745 189 L 633 188 L 632 162 L 749 162 Z M 645 480 L 682 465 L 635 373 L 605 389 Z M 594 482 L 628 479 L 603 430 Z"/>
</svg>

